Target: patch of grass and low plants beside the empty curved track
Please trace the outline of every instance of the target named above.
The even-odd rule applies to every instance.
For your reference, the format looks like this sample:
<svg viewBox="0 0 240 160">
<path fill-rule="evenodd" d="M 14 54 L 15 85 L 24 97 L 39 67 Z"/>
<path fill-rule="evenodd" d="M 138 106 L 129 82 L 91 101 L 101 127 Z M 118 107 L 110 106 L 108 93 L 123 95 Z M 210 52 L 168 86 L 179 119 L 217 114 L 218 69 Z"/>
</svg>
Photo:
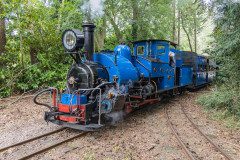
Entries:
<svg viewBox="0 0 240 160">
<path fill-rule="evenodd" d="M 240 129 L 239 100 L 238 93 L 221 88 L 199 96 L 197 103 L 204 106 L 211 119 L 222 121 L 226 127 Z"/>
</svg>

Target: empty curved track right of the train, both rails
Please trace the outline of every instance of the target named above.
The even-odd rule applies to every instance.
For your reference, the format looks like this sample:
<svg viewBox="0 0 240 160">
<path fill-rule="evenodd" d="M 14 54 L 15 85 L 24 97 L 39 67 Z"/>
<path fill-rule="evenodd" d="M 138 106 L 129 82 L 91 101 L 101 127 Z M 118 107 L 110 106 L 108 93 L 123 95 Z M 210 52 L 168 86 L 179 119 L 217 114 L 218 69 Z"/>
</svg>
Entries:
<svg viewBox="0 0 240 160">
<path fill-rule="evenodd" d="M 225 159 L 227 160 L 232 160 L 232 158 L 224 151 L 222 150 L 217 144 L 215 144 L 205 133 L 203 133 L 198 127 L 197 125 L 192 121 L 192 119 L 188 116 L 188 114 L 186 113 L 184 107 L 180 104 L 180 109 L 182 111 L 182 113 L 185 115 L 185 117 L 187 118 L 187 120 L 191 123 L 192 127 L 195 128 L 200 135 L 202 135 L 215 149 L 216 151 L 218 151 L 219 153 L 221 153 L 222 156 L 225 157 Z M 194 157 L 194 155 L 192 154 L 192 152 L 190 151 L 190 149 L 188 149 L 188 147 L 186 146 L 186 144 L 183 142 L 183 140 L 180 138 L 179 133 L 177 131 L 177 129 L 174 127 L 173 123 L 171 122 L 171 118 L 168 114 L 168 109 L 165 108 L 165 114 L 167 117 L 167 122 L 168 125 L 170 126 L 172 132 L 174 133 L 176 139 L 178 140 L 179 144 L 181 145 L 182 149 L 184 150 L 185 154 L 187 155 L 187 157 L 191 160 L 195 160 L 196 158 Z"/>
</svg>

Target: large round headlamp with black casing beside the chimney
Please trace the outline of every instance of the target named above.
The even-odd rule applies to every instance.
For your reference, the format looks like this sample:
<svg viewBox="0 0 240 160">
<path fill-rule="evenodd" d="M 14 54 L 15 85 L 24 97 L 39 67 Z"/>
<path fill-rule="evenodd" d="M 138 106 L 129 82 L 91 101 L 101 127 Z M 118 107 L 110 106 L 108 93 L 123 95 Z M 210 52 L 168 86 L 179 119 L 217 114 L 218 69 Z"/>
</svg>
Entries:
<svg viewBox="0 0 240 160">
<path fill-rule="evenodd" d="M 68 52 L 78 51 L 84 46 L 84 35 L 77 29 L 68 29 L 63 32 L 62 44 Z"/>
</svg>

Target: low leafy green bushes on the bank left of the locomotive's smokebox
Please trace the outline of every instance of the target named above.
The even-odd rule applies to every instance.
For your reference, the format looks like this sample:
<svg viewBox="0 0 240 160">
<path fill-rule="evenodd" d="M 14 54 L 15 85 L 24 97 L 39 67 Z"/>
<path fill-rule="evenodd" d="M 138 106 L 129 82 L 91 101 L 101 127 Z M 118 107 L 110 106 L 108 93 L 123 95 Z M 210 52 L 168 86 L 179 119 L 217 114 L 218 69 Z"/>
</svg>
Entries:
<svg viewBox="0 0 240 160">
<path fill-rule="evenodd" d="M 0 97 L 49 86 L 63 89 L 71 58 L 63 52 L 54 57 L 43 55 L 39 54 L 37 64 L 27 64 L 24 68 L 5 63 L 5 67 L 0 68 Z"/>
</svg>

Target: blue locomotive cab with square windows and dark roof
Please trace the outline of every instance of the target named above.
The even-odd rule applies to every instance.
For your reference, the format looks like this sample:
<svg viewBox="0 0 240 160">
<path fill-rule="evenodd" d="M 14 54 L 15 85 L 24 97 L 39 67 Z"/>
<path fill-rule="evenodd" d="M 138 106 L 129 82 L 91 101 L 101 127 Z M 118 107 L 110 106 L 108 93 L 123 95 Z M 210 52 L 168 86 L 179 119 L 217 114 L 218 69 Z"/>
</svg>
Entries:
<svg viewBox="0 0 240 160">
<path fill-rule="evenodd" d="M 142 40 L 133 43 L 134 64 L 140 75 L 150 78 L 157 90 L 173 89 L 175 85 L 176 44 L 165 40 Z M 172 62 L 169 54 L 173 54 Z"/>
</svg>

